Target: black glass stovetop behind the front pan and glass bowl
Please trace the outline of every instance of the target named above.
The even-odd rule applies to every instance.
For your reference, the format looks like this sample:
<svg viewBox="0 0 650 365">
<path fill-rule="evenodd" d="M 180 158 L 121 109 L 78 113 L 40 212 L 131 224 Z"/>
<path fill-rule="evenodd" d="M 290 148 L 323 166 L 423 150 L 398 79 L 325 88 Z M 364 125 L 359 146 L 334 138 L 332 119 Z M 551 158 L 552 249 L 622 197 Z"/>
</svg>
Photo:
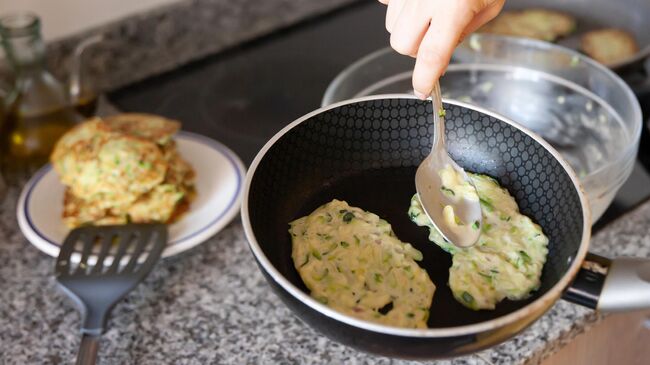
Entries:
<svg viewBox="0 0 650 365">
<path fill-rule="evenodd" d="M 275 132 L 320 106 L 342 69 L 389 44 L 384 15 L 376 2 L 351 5 L 117 90 L 109 99 L 124 111 L 178 119 L 183 129 L 221 141 L 249 164 Z M 650 93 L 640 100 L 648 120 Z M 644 126 L 634 172 L 595 230 L 650 198 L 649 169 Z"/>
</svg>

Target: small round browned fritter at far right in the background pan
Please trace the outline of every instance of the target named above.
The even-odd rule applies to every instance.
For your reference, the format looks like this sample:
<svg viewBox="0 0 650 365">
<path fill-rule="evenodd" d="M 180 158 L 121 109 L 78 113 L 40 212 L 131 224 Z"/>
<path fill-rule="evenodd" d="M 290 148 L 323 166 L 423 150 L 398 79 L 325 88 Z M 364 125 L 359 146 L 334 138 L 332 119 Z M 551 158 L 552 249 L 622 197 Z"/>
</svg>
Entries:
<svg viewBox="0 0 650 365">
<path fill-rule="evenodd" d="M 625 61 L 639 52 L 634 36 L 616 28 L 587 32 L 580 46 L 589 57 L 605 65 Z"/>
</svg>

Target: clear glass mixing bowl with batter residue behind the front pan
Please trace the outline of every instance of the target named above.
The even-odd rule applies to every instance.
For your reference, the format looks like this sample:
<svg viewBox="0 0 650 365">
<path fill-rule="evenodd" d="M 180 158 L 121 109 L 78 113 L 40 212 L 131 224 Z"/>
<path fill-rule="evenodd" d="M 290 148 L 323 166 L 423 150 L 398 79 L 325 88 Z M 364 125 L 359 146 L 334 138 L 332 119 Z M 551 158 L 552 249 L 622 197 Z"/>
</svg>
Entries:
<svg viewBox="0 0 650 365">
<path fill-rule="evenodd" d="M 390 48 L 339 74 L 322 104 L 412 93 L 412 58 Z M 443 96 L 493 110 L 544 137 L 574 168 L 595 223 L 634 168 L 642 116 L 616 74 L 573 50 L 523 38 L 473 34 L 440 80 Z"/>
</svg>

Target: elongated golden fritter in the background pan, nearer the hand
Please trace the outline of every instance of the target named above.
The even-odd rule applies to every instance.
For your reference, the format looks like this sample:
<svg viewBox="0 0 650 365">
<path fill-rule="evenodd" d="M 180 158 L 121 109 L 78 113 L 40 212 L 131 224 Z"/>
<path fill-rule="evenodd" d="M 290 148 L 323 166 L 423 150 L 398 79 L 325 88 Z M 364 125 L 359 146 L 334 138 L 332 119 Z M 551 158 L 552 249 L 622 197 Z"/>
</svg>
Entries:
<svg viewBox="0 0 650 365">
<path fill-rule="evenodd" d="M 576 20 L 568 14 L 548 9 L 525 9 L 504 11 L 479 32 L 554 42 L 575 29 Z"/>
</svg>

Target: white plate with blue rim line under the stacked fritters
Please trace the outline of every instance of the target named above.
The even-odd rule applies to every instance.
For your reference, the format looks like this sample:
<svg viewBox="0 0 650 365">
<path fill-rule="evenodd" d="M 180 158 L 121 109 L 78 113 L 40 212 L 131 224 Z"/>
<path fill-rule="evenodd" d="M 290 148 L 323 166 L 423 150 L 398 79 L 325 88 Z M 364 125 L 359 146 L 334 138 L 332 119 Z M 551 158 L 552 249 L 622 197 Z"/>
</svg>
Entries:
<svg viewBox="0 0 650 365">
<path fill-rule="evenodd" d="M 228 147 L 198 134 L 179 132 L 178 150 L 196 171 L 196 198 L 188 212 L 169 226 L 163 257 L 186 251 L 219 232 L 238 213 L 246 169 Z M 52 168 L 41 168 L 18 200 L 20 229 L 29 242 L 50 256 L 70 231 L 61 219 L 64 186 Z"/>
</svg>

